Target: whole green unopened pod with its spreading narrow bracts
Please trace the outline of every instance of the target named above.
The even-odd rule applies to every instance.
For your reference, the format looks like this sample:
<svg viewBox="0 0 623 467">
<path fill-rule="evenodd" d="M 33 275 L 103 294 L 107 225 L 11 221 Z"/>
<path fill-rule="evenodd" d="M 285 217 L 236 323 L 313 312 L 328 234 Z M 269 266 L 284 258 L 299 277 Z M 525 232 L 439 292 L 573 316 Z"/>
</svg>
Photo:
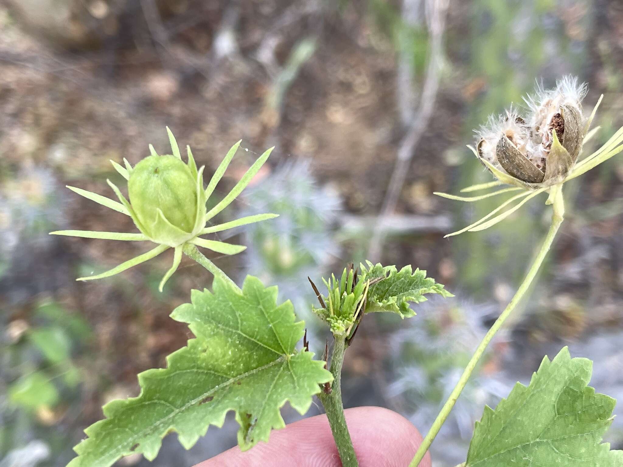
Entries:
<svg viewBox="0 0 623 467">
<path fill-rule="evenodd" d="M 108 185 L 113 189 L 119 201 L 112 200 L 97 193 L 86 191 L 76 187 L 68 187 L 75 193 L 87 199 L 97 202 L 112 210 L 128 215 L 134 221 L 140 234 L 130 232 L 93 232 L 92 230 L 58 230 L 50 232 L 53 235 L 67 235 L 69 237 L 82 238 L 101 238 L 103 240 L 125 240 L 130 242 L 140 240 L 150 240 L 158 246 L 152 250 L 142 253 L 135 258 L 131 258 L 121 263 L 111 270 L 101 274 L 88 277 L 81 277 L 78 280 L 103 279 L 125 271 L 128 268 L 144 263 L 151 258 L 155 258 L 160 253 L 173 248 L 173 265 L 166 271 L 160 281 L 159 290 L 162 291 L 164 284 L 175 273 L 182 260 L 182 254 L 186 253 L 189 257 L 199 262 L 207 270 L 223 280 L 235 283 L 225 275 L 223 271 L 204 257 L 197 247 L 207 248 L 222 255 L 235 255 L 242 252 L 246 247 L 242 245 L 231 245 L 231 243 L 219 242 L 201 238 L 202 235 L 214 234 L 222 230 L 234 229 L 240 225 L 252 224 L 262 220 L 277 217 L 275 214 L 257 214 L 231 220 L 224 224 L 211 225 L 206 223 L 215 215 L 225 209 L 242 190 L 249 184 L 253 176 L 259 171 L 260 167 L 268 159 L 273 148 L 264 151 L 249 170 L 242 176 L 242 179 L 235 185 L 223 199 L 221 199 L 212 209 L 206 212 L 206 201 L 214 192 L 217 183 L 221 180 L 227 166 L 234 157 L 235 152 L 240 146 L 240 141 L 234 144 L 216 169 L 207 188 L 203 187 L 203 169 L 197 170 L 197 165 L 193 158 L 191 148 L 188 146 L 188 164 L 182 161 L 178 143 L 173 133 L 167 127 L 169 142 L 173 155 L 159 156 L 156 149 L 150 144 L 151 156 L 140 161 L 135 167 L 123 159 L 125 167 L 110 161 L 115 170 L 128 181 L 128 201 L 121 193 L 121 190 L 107 180 Z"/>
</svg>

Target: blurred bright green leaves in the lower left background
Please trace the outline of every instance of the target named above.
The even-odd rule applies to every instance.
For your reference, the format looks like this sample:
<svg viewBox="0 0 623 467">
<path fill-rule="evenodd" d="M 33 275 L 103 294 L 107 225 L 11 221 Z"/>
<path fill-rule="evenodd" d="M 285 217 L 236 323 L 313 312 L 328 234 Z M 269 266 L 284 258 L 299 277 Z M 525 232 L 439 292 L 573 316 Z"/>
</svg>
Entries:
<svg viewBox="0 0 623 467">
<path fill-rule="evenodd" d="M 44 440 L 52 455 L 65 451 L 69 438 L 57 424 L 80 400 L 84 375 L 74 354 L 92 339 L 90 326 L 62 304 L 42 301 L 27 316 L 9 321 L 6 334 L 0 344 L 0 372 L 7 384 L 6 400 L 0 400 L 6 405 L 0 459 L 36 439 Z"/>
</svg>

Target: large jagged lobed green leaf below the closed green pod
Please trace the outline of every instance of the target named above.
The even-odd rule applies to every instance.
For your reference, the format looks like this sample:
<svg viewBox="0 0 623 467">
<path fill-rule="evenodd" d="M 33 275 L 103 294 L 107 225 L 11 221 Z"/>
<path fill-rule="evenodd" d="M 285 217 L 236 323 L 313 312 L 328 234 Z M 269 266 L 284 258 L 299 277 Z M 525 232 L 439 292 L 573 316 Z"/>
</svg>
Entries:
<svg viewBox="0 0 623 467">
<path fill-rule="evenodd" d="M 85 430 L 70 467 L 107 467 L 121 456 L 143 453 L 153 460 L 174 430 L 189 449 L 209 425 L 221 427 L 234 410 L 243 450 L 283 428 L 286 402 L 307 412 L 319 384 L 333 380 L 325 362 L 296 351 L 304 323 L 295 322 L 290 301 L 277 305 L 277 287 L 248 276 L 242 293 L 216 278 L 214 291 L 193 290 L 192 303 L 173 319 L 188 323 L 196 339 L 167 358 L 166 369 L 138 375 L 141 394 L 103 407 L 106 419 Z"/>
</svg>

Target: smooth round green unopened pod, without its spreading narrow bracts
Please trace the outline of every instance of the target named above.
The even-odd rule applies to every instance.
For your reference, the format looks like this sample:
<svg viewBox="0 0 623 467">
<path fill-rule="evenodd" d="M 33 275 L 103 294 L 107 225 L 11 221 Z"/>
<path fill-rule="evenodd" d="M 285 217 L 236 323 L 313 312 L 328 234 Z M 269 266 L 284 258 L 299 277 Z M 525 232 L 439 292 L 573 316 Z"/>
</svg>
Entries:
<svg viewBox="0 0 623 467">
<path fill-rule="evenodd" d="M 149 156 L 132 169 L 128 181 L 136 227 L 157 243 L 181 245 L 202 227 L 206 203 L 201 181 L 175 156 Z M 199 207 L 199 209 L 197 209 Z"/>
</svg>

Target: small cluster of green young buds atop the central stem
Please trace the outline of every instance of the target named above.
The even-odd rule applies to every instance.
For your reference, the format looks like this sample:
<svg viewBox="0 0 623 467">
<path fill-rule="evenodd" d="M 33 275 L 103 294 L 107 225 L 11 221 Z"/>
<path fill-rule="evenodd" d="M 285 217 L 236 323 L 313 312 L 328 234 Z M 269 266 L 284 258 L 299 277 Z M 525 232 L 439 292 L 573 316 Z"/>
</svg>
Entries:
<svg viewBox="0 0 623 467">
<path fill-rule="evenodd" d="M 344 269 L 340 281 L 333 274 L 328 281 L 325 278 L 322 281 L 328 295 L 318 294 L 322 308 L 313 308 L 313 311 L 329 324 L 335 336 L 346 335 L 350 338 L 356 329 L 354 324 L 358 323 L 364 312 L 368 282 L 358 280 L 357 271 L 353 270 L 352 265 Z"/>
</svg>

